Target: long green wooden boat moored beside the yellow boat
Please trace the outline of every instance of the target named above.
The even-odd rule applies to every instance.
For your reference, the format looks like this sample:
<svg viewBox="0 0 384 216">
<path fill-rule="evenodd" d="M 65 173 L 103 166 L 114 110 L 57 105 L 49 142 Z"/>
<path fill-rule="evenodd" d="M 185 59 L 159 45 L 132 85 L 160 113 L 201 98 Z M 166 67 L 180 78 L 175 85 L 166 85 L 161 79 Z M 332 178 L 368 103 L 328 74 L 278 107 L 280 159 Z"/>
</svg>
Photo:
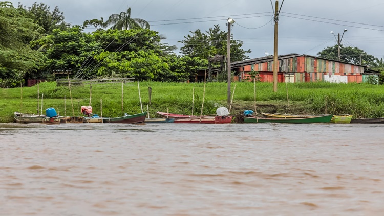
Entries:
<svg viewBox="0 0 384 216">
<path fill-rule="evenodd" d="M 244 116 L 244 123 L 329 123 L 333 115 L 322 115 L 305 118 L 257 118 L 255 116 Z"/>
</svg>

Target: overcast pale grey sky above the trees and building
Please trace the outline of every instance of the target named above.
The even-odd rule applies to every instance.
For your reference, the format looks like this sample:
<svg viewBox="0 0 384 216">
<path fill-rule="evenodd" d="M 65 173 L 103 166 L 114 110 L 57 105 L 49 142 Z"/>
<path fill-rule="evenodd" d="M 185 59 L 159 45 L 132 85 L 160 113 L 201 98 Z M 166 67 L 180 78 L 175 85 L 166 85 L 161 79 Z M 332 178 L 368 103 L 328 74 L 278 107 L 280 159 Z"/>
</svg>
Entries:
<svg viewBox="0 0 384 216">
<path fill-rule="evenodd" d="M 31 6 L 35 0 L 11 2 L 15 7 L 18 2 Z M 167 37 L 164 42 L 177 45 L 179 48 L 182 44 L 177 41 L 183 40 L 189 31 L 197 29 L 205 31 L 215 24 L 219 24 L 221 29 L 226 31 L 226 20 L 231 17 L 236 20 L 231 30 L 234 39 L 242 40 L 243 49 L 252 51 L 249 54 L 250 58 L 265 56 L 265 51 L 273 54 L 274 27 L 270 0 L 40 0 L 37 2 L 45 3 L 52 9 L 58 6 L 64 13 L 66 21 L 72 25 L 81 25 L 87 19 L 100 17 L 106 20 L 111 14 L 126 11 L 127 7 L 131 7 L 132 18 L 147 20 L 152 30 Z M 274 6 L 275 0 L 272 2 Z M 283 0 L 280 0 L 279 4 L 282 2 Z M 382 58 L 384 57 L 382 20 L 384 20 L 383 0 L 284 0 L 280 13 L 278 53 L 316 55 L 325 47 L 336 44 L 335 37 L 330 31 L 337 36 L 337 33 L 342 34 L 344 29 L 348 29 L 344 34 L 343 44 L 357 46 L 368 54 Z M 164 25 L 170 23 L 173 24 Z M 263 25 L 265 26 L 261 27 Z"/>
</svg>

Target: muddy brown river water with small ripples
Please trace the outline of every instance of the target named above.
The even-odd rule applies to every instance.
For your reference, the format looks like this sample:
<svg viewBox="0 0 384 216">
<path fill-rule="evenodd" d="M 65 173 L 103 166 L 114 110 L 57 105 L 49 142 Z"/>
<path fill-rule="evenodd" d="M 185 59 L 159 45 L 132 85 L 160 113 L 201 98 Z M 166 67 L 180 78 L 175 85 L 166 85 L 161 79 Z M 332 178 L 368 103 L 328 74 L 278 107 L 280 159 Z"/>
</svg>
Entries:
<svg viewBox="0 0 384 216">
<path fill-rule="evenodd" d="M 384 126 L 0 124 L 0 215 L 384 215 Z"/>
</svg>

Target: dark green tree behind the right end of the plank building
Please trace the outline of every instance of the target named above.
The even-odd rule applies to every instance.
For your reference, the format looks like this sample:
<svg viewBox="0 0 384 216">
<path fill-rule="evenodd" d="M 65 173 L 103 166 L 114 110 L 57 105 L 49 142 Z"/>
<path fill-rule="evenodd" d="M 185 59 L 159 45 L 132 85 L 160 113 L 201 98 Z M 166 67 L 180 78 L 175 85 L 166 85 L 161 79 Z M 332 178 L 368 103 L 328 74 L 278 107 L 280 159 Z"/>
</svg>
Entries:
<svg viewBox="0 0 384 216">
<path fill-rule="evenodd" d="M 317 53 L 319 57 L 330 60 L 338 60 L 337 45 L 328 46 L 324 50 Z M 361 60 L 361 63 L 360 63 Z M 367 54 L 364 50 L 357 47 L 340 45 L 340 61 L 348 62 L 351 64 L 362 64 L 371 66 L 375 60 L 375 57 Z"/>
</svg>

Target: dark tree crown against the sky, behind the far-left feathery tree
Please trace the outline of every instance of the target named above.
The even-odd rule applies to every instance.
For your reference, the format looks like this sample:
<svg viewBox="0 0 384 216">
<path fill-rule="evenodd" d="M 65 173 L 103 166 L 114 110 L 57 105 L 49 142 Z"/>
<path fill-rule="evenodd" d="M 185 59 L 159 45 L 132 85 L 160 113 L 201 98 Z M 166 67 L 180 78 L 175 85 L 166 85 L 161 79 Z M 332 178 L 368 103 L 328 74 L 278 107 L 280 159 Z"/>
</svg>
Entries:
<svg viewBox="0 0 384 216">
<path fill-rule="evenodd" d="M 51 10 L 51 7 L 44 3 L 35 2 L 30 7 L 19 3 L 18 10 L 43 28 L 46 34 L 51 34 L 53 29 L 66 29 L 70 26 L 64 21 L 63 12 L 60 12 L 57 6 Z"/>
</svg>

